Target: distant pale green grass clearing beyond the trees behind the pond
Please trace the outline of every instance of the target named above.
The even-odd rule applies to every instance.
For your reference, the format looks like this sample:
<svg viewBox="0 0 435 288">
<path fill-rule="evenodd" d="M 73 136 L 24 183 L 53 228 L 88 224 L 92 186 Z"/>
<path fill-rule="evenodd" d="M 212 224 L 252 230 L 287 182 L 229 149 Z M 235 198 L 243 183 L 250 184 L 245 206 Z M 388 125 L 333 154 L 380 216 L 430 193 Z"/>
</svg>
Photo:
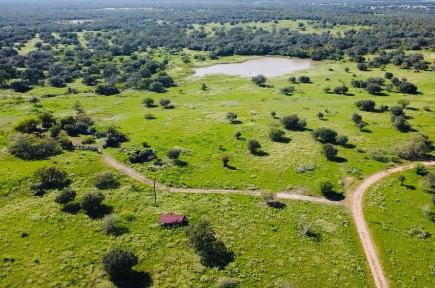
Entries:
<svg viewBox="0 0 435 288">
<path fill-rule="evenodd" d="M 302 23 L 303 26 L 299 27 L 299 23 Z M 246 22 L 246 23 L 238 23 L 231 25 L 230 23 L 223 23 L 223 25 L 219 23 L 208 23 L 205 25 L 199 25 L 195 24 L 193 25 L 195 30 L 201 29 L 201 27 L 204 28 L 204 31 L 210 34 L 213 34 L 213 29 L 219 29 L 219 28 L 225 28 L 225 29 L 231 29 L 233 27 L 250 27 L 253 30 L 256 29 L 265 29 L 265 30 L 271 30 L 273 28 L 275 29 L 281 29 L 281 28 L 288 28 L 289 30 L 295 30 L 300 33 L 323 33 L 323 32 L 330 32 L 331 34 L 337 34 L 337 33 L 343 33 L 349 29 L 359 30 L 363 28 L 369 28 L 368 26 L 350 26 L 350 25 L 336 25 L 336 26 L 330 26 L 330 27 L 321 27 L 317 23 L 310 22 L 308 20 L 279 20 L 278 23 L 273 22 Z M 190 30 L 188 30 L 189 32 Z"/>
</svg>

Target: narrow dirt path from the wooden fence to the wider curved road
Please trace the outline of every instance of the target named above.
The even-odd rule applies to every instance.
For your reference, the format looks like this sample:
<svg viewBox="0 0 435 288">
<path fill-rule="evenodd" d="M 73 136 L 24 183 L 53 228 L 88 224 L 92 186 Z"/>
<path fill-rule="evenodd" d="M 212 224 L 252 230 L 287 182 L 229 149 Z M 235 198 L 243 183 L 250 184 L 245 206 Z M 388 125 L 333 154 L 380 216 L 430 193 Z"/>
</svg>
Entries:
<svg viewBox="0 0 435 288">
<path fill-rule="evenodd" d="M 109 155 L 103 155 L 104 160 L 110 164 L 110 166 L 114 167 L 116 170 L 121 171 L 122 173 L 125 173 L 129 175 L 130 177 L 138 180 L 139 182 L 145 183 L 149 186 L 153 186 L 153 180 L 149 179 L 145 176 L 143 176 L 141 173 L 137 172 L 136 170 L 118 162 L 116 159 L 110 157 Z M 219 193 L 219 194 L 227 194 L 227 193 L 237 193 L 237 194 L 247 194 L 247 195 L 261 195 L 261 191 L 250 191 L 250 190 L 225 190 L 225 189 L 184 189 L 184 188 L 173 188 L 165 186 L 162 183 L 156 182 L 156 188 L 158 189 L 164 189 L 171 192 L 181 192 L 181 193 Z M 290 194 L 285 192 L 278 192 L 276 193 L 277 198 L 283 198 L 283 199 L 294 199 L 294 200 L 305 200 L 305 201 L 311 201 L 311 202 L 319 202 L 319 203 L 325 203 L 325 204 L 333 204 L 333 205 L 339 205 L 342 204 L 343 201 L 332 201 L 321 197 L 314 197 L 314 196 L 305 196 L 305 195 L 298 195 L 298 194 Z"/>
</svg>

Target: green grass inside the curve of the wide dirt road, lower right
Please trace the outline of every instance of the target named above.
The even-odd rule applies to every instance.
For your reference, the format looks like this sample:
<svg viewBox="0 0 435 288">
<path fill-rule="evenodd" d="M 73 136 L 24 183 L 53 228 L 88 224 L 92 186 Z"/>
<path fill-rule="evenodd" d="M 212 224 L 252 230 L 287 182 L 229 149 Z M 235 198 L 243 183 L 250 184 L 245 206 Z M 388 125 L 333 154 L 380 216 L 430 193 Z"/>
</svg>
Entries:
<svg viewBox="0 0 435 288">
<path fill-rule="evenodd" d="M 399 175 L 406 177 L 408 187 L 400 186 Z M 432 195 L 421 190 L 420 179 L 413 171 L 397 173 L 365 196 L 365 216 L 392 287 L 432 287 L 435 281 L 435 223 L 422 209 Z M 421 239 L 408 234 L 418 227 L 432 236 Z"/>
</svg>

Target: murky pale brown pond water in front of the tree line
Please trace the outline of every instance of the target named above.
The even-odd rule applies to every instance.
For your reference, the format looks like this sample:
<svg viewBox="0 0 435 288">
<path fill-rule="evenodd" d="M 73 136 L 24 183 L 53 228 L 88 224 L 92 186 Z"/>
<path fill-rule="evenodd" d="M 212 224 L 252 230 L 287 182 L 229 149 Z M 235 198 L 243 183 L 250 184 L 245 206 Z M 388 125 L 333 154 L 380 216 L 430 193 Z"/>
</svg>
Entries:
<svg viewBox="0 0 435 288">
<path fill-rule="evenodd" d="M 281 76 L 294 71 L 312 68 L 321 61 L 311 59 L 284 58 L 284 57 L 258 57 L 242 63 L 216 64 L 208 67 L 195 68 L 194 77 L 207 74 L 227 74 L 239 76 Z"/>
</svg>

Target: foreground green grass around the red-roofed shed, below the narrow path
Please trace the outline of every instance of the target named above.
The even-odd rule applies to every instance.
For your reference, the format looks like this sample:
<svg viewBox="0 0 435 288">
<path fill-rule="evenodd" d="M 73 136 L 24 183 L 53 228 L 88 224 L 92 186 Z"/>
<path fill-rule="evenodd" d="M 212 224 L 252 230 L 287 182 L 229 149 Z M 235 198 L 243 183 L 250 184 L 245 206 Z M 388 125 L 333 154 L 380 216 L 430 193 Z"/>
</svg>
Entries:
<svg viewBox="0 0 435 288">
<path fill-rule="evenodd" d="M 107 169 L 92 152 L 68 152 L 45 164 L 49 162 L 67 170 L 78 198 L 95 190 L 92 175 Z M 6 169 L 7 162 L 1 161 L 0 167 Z M 17 165 L 14 174 L 24 177 L 31 171 Z M 53 202 L 56 191 L 0 201 L 0 286 L 112 287 L 100 261 L 115 245 L 135 252 L 139 257 L 135 270 L 150 273 L 153 287 L 214 287 L 220 276 L 238 278 L 244 287 L 266 287 L 279 279 L 297 287 L 371 286 L 353 224 L 340 207 L 283 201 L 286 208 L 279 210 L 253 196 L 164 191 L 158 191 L 154 207 L 150 189 L 118 177 L 120 188 L 103 191 L 105 203 L 127 230 L 117 237 L 106 235 L 99 219 L 62 212 Z M 183 229 L 158 227 L 159 216 L 168 212 L 185 214 L 190 223 L 209 219 L 235 261 L 223 270 L 201 265 Z M 320 241 L 300 234 L 302 214 Z"/>
</svg>

